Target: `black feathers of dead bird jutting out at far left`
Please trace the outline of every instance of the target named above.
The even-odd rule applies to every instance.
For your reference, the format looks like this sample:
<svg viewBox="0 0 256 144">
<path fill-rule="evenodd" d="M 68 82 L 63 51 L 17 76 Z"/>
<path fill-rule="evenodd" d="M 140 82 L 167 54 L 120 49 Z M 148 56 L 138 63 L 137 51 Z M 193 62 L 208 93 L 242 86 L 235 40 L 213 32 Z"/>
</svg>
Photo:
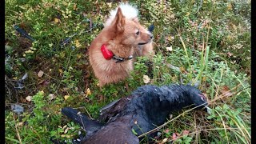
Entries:
<svg viewBox="0 0 256 144">
<path fill-rule="evenodd" d="M 86 130 L 86 136 L 89 137 L 94 132 L 100 130 L 102 128 L 102 123 L 88 118 L 86 115 L 82 114 L 78 110 L 74 110 L 70 107 L 62 108 L 62 114 L 66 115 L 68 118 L 73 120 L 74 122 L 79 123 L 80 126 L 84 130 Z"/>
</svg>

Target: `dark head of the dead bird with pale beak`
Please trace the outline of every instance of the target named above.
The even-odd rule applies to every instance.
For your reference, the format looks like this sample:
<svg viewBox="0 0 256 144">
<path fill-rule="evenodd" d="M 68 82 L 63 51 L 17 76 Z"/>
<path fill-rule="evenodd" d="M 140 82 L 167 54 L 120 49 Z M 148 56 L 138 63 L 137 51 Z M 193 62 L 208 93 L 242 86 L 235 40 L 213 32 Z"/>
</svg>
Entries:
<svg viewBox="0 0 256 144">
<path fill-rule="evenodd" d="M 207 98 L 200 90 L 194 86 L 186 85 L 186 92 L 190 96 L 190 102 L 194 104 L 194 107 L 198 106 L 196 109 L 204 109 L 210 114 Z"/>
</svg>

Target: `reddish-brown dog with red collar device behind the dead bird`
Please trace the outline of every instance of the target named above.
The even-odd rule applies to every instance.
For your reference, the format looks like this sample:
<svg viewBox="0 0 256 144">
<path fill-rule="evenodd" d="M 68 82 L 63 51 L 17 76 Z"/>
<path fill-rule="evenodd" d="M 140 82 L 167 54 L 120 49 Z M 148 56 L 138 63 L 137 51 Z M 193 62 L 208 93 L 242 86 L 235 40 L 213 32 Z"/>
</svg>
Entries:
<svg viewBox="0 0 256 144">
<path fill-rule="evenodd" d="M 152 34 L 138 22 L 126 18 L 118 7 L 110 26 L 105 26 L 90 45 L 89 59 L 99 86 L 119 82 L 133 70 L 134 48 L 150 42 Z"/>
</svg>

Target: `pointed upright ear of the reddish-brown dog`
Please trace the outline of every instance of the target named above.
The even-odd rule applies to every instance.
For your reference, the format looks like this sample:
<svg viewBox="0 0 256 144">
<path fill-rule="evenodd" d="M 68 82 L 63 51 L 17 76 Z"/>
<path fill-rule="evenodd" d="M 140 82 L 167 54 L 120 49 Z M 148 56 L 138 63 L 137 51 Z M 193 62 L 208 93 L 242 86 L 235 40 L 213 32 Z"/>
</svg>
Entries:
<svg viewBox="0 0 256 144">
<path fill-rule="evenodd" d="M 118 33 L 122 33 L 125 29 L 126 17 L 122 14 L 122 10 L 118 7 L 118 12 L 115 15 L 113 26 L 116 28 Z"/>
</svg>

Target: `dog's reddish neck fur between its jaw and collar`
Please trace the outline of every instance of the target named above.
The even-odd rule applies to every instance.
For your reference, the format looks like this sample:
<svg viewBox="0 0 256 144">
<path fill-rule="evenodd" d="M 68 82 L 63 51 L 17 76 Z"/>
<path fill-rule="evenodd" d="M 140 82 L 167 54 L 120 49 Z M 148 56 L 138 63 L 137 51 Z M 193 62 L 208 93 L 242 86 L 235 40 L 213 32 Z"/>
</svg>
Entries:
<svg viewBox="0 0 256 144">
<path fill-rule="evenodd" d="M 130 55 L 134 54 L 134 46 L 126 46 L 114 41 L 110 41 L 108 45 L 108 49 L 120 58 L 129 58 Z"/>
</svg>

